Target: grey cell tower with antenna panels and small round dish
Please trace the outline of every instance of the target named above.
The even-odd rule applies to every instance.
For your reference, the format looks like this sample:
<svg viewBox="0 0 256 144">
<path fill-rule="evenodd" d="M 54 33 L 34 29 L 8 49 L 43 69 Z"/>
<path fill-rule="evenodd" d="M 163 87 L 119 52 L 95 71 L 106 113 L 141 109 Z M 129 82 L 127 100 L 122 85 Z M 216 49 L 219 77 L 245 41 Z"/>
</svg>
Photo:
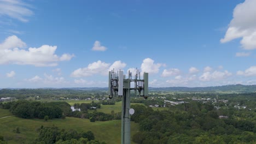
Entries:
<svg viewBox="0 0 256 144">
<path fill-rule="evenodd" d="M 134 82 L 134 88 L 131 88 L 131 82 Z M 128 77 L 126 79 L 124 71 L 115 72 L 114 69 L 109 71 L 108 80 L 109 89 L 109 99 L 113 98 L 113 95 L 122 97 L 122 124 L 121 124 L 121 144 L 131 143 L 131 122 L 130 115 L 135 112 L 130 109 L 130 94 L 131 90 L 135 91 L 135 95 L 140 97 L 148 98 L 148 73 L 143 74 L 143 79 L 141 79 L 141 73 L 136 69 L 135 78 L 132 79 L 132 73 L 128 72 Z"/>
</svg>

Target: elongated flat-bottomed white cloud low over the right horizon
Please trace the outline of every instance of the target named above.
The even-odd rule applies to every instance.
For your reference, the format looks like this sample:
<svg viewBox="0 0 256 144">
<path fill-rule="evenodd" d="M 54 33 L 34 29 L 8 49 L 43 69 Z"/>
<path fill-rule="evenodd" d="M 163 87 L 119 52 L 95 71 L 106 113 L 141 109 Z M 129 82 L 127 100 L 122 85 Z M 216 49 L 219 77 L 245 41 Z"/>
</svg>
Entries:
<svg viewBox="0 0 256 144">
<path fill-rule="evenodd" d="M 210 71 L 207 71 L 205 73 L 203 73 L 200 77 L 199 80 L 201 81 L 217 81 L 217 80 L 223 80 L 226 77 L 231 76 L 232 74 L 229 73 L 229 71 L 225 70 L 225 71 L 213 71 L 213 73 L 211 73 Z"/>
</svg>

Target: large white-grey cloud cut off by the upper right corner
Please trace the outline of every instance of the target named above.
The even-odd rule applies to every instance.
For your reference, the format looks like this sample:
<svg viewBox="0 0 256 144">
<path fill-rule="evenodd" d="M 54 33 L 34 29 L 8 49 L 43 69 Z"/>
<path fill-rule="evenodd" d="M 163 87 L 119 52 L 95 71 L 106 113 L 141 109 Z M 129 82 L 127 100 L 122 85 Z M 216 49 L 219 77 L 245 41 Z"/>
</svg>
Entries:
<svg viewBox="0 0 256 144">
<path fill-rule="evenodd" d="M 236 5 L 233 11 L 233 19 L 229 24 L 225 37 L 220 39 L 221 43 L 242 38 L 240 43 L 244 49 L 256 49 L 255 5 L 255 0 L 246 0 L 243 3 Z"/>
</svg>

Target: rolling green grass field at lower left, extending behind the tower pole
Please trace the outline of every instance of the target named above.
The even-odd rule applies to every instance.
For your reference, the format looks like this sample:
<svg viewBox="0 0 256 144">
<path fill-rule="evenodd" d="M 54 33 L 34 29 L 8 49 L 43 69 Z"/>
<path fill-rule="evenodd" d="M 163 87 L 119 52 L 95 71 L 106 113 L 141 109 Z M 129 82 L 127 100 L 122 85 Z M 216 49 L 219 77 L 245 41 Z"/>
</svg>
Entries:
<svg viewBox="0 0 256 144">
<path fill-rule="evenodd" d="M 0 119 L 0 135 L 4 136 L 4 140 L 11 143 L 28 143 L 38 136 L 37 129 L 55 125 L 59 128 L 74 129 L 78 132 L 91 130 L 95 134 L 95 139 L 105 141 L 107 143 L 120 143 L 121 141 L 121 121 L 107 121 L 91 123 L 89 119 L 80 119 L 67 117 L 66 119 L 50 119 L 44 122 L 43 119 L 24 119 L 18 117 L 7 117 Z M 20 134 L 16 134 L 13 130 L 19 127 Z M 131 122 L 131 136 L 138 131 L 138 124 Z M 133 143 L 133 142 L 132 142 Z"/>
</svg>

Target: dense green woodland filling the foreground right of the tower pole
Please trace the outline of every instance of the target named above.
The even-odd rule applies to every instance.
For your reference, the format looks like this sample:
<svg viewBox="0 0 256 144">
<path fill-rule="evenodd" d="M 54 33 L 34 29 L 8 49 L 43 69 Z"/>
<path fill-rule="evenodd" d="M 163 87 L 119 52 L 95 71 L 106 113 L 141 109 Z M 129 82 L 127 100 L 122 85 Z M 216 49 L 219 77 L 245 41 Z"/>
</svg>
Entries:
<svg viewBox="0 0 256 144">
<path fill-rule="evenodd" d="M 132 136 L 136 143 L 253 143 L 256 123 L 236 116 L 219 118 L 211 104 L 185 103 L 170 110 L 132 105 L 131 121 L 140 131 Z"/>
</svg>

